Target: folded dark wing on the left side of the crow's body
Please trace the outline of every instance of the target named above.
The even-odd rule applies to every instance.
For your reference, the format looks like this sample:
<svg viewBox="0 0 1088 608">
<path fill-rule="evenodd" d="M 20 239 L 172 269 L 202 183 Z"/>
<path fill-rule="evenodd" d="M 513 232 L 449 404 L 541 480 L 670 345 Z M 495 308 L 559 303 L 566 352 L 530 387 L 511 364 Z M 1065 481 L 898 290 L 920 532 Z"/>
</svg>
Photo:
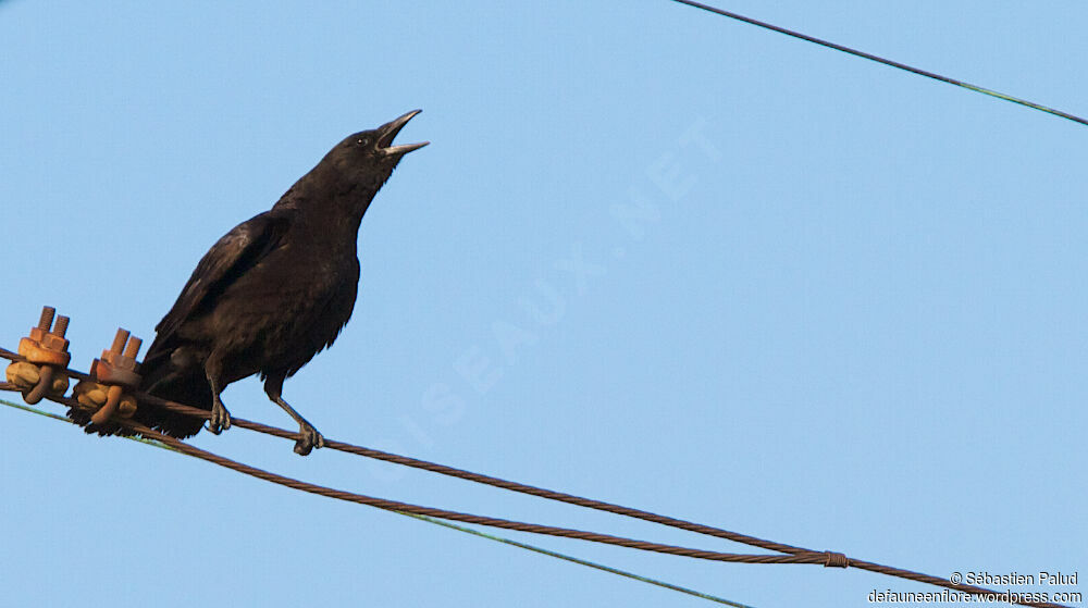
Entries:
<svg viewBox="0 0 1088 608">
<path fill-rule="evenodd" d="M 154 342 L 165 342 L 187 319 L 210 310 L 227 286 L 280 245 L 287 223 L 286 218 L 265 211 L 223 235 L 197 264 L 174 307 L 154 326 Z"/>
</svg>

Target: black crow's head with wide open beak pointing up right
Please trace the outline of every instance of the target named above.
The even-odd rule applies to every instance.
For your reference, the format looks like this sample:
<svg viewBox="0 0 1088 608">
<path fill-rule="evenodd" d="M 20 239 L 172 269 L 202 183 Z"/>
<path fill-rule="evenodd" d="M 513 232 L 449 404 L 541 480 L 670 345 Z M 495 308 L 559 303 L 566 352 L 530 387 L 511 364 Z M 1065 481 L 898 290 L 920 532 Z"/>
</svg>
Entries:
<svg viewBox="0 0 1088 608">
<path fill-rule="evenodd" d="M 430 144 L 393 145 L 393 138 L 421 111 L 412 110 L 378 128 L 347 136 L 329 152 L 324 162 L 330 162 L 347 183 L 376 191 L 390 178 L 405 154 Z"/>
</svg>

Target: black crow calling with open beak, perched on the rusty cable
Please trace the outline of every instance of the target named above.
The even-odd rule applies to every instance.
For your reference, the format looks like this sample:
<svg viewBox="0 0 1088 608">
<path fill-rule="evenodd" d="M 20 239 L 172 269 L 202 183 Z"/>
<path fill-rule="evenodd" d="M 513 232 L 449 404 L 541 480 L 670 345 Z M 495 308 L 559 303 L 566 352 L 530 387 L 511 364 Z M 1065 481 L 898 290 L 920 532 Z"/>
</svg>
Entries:
<svg viewBox="0 0 1088 608">
<path fill-rule="evenodd" d="M 322 447 L 317 429 L 283 400 L 283 382 L 332 345 L 351 317 L 359 223 L 400 159 L 429 144 L 393 145 L 419 112 L 348 136 L 270 211 L 219 239 L 156 325 L 140 389 L 211 410 L 209 430 L 218 435 L 231 427 L 220 393 L 260 374 L 264 393 L 298 422 L 295 451 Z M 139 404 L 135 418 L 174 437 L 202 426 L 152 404 Z"/>
</svg>

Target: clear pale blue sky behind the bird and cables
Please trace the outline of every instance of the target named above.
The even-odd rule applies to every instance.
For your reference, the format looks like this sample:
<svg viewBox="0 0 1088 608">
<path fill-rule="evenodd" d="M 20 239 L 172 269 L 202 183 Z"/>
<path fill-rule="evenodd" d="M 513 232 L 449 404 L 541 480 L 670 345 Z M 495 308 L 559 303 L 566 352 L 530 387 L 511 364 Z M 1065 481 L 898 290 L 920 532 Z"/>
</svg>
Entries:
<svg viewBox="0 0 1088 608">
<path fill-rule="evenodd" d="M 722 8 L 1088 114 L 1080 2 Z M 77 368 L 118 325 L 150 339 L 220 235 L 345 135 L 422 108 L 400 138 L 432 145 L 362 224 L 355 318 L 286 383 L 326 436 L 939 576 L 1086 566 L 1081 125 L 664 0 L 8 0 L 0 83 L 7 348 L 45 303 L 72 317 Z M 289 426 L 256 380 L 224 400 Z M 706 605 L 0 422 L 13 606 Z M 242 430 L 194 443 L 755 551 Z M 927 590 L 508 535 L 761 608 Z"/>
</svg>

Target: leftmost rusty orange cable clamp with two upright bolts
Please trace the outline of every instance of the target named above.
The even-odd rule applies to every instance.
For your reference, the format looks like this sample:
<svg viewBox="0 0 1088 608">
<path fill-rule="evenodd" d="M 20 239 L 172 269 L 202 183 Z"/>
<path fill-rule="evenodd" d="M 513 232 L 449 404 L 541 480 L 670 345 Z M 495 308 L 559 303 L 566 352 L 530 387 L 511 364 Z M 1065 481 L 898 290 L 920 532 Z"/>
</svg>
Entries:
<svg viewBox="0 0 1088 608">
<path fill-rule="evenodd" d="M 72 360 L 67 351 L 69 342 L 64 339 L 69 318 L 58 317 L 53 325 L 54 314 L 57 309 L 53 307 L 41 307 L 38 326 L 32 327 L 30 335 L 18 340 L 18 353 L 26 361 L 13 363 L 8 369 L 9 376 L 15 375 L 22 381 L 16 384 L 27 387 L 23 390 L 23 399 L 30 405 L 37 404 L 47 394 L 63 395 L 67 390 L 69 381 L 63 370 Z"/>
</svg>

